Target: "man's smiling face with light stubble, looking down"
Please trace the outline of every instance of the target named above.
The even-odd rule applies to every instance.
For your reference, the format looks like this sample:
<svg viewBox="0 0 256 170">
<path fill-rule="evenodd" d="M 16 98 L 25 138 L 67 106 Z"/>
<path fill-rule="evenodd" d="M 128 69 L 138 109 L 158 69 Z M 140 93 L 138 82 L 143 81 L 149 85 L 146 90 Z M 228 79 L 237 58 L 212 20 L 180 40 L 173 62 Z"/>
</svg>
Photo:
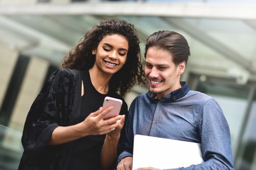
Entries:
<svg viewBox="0 0 256 170">
<path fill-rule="evenodd" d="M 149 91 L 156 94 L 157 99 L 181 87 L 180 75 L 184 72 L 185 61 L 177 66 L 172 62 L 169 51 L 150 47 L 146 54 L 145 76 L 149 83 Z"/>
</svg>

